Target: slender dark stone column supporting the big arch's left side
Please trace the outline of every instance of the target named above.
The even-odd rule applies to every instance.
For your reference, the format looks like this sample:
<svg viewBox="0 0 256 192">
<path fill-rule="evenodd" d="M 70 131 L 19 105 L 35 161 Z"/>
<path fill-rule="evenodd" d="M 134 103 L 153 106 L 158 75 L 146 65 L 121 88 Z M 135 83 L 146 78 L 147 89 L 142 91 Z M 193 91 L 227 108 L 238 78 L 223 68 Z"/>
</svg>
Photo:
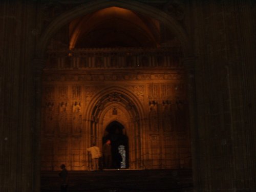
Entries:
<svg viewBox="0 0 256 192">
<path fill-rule="evenodd" d="M 41 97 L 42 97 L 42 69 L 46 65 L 45 59 L 34 59 L 34 111 L 35 122 L 33 124 L 33 154 L 34 154 L 34 191 L 40 191 L 40 138 L 41 138 Z"/>
</svg>

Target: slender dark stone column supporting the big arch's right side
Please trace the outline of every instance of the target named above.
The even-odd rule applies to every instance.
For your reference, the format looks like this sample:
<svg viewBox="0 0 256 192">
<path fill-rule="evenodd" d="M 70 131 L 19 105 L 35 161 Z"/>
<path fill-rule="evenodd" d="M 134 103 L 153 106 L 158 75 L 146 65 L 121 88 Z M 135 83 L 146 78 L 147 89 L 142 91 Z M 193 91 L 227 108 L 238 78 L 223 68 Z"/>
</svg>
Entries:
<svg viewBox="0 0 256 192">
<path fill-rule="evenodd" d="M 198 187 L 198 173 L 199 173 L 199 156 L 200 153 L 198 145 L 198 123 L 197 123 L 197 98 L 196 98 L 196 80 L 195 80 L 195 64 L 194 57 L 187 57 L 183 60 L 183 66 L 187 71 L 187 88 L 188 88 L 188 106 L 189 106 L 189 125 L 191 137 L 191 155 L 192 155 L 192 169 L 193 169 L 193 183 L 194 191 Z"/>
</svg>

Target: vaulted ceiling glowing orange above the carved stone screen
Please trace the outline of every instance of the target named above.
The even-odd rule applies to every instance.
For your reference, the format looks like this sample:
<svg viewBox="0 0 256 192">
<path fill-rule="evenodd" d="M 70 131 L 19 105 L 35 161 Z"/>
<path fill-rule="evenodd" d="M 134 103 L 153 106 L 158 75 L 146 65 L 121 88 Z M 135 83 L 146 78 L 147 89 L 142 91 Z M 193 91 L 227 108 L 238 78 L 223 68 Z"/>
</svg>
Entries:
<svg viewBox="0 0 256 192">
<path fill-rule="evenodd" d="M 160 25 L 133 11 L 110 7 L 70 23 L 70 49 L 103 47 L 158 47 Z"/>
</svg>

